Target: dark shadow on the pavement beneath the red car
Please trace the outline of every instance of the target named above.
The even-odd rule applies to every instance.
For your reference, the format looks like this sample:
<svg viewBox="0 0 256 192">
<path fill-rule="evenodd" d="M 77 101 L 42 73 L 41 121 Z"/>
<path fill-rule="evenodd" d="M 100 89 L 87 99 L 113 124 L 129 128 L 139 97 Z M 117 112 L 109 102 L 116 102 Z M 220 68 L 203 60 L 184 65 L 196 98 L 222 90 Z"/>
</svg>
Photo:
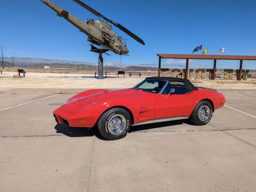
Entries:
<svg viewBox="0 0 256 192">
<path fill-rule="evenodd" d="M 150 123 L 150 124 L 144 124 L 144 125 L 134 125 L 131 126 L 131 129 L 129 133 L 131 132 L 137 132 L 137 131 L 150 131 L 152 129 L 161 128 L 161 127 L 167 127 L 172 125 L 182 125 L 182 124 L 191 124 L 189 119 L 182 119 L 182 120 L 176 120 L 176 121 L 168 121 L 168 122 L 160 122 L 160 123 Z M 85 129 L 82 127 L 70 127 L 65 124 L 57 124 L 55 126 L 57 133 L 62 133 L 68 137 L 97 137 L 101 140 L 106 140 L 101 136 L 99 131 L 97 130 L 97 127 L 94 126 L 92 129 Z"/>
</svg>

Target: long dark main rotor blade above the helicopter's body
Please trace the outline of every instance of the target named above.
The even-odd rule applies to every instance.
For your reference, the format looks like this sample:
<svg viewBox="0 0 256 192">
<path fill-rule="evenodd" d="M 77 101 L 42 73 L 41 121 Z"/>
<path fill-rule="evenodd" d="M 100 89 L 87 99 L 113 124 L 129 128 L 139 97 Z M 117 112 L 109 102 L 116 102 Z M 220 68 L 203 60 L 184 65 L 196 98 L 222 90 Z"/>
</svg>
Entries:
<svg viewBox="0 0 256 192">
<path fill-rule="evenodd" d="M 127 35 L 130 35 L 132 38 L 134 38 L 136 41 L 138 41 L 139 43 L 141 43 L 142 45 L 145 45 L 144 41 L 139 38 L 137 35 L 133 34 L 130 30 L 126 29 L 125 27 L 123 27 L 122 25 L 120 25 L 119 23 L 116 23 L 114 21 L 112 21 L 111 19 L 108 19 L 106 17 L 104 17 L 101 13 L 95 11 L 94 9 L 92 9 L 92 7 L 86 5 L 85 3 L 81 2 L 80 0 L 73 0 L 74 2 L 76 2 L 77 4 L 81 5 L 82 7 L 84 7 L 85 9 L 87 9 L 88 11 L 92 12 L 93 14 L 95 14 L 97 17 L 100 17 L 104 20 L 107 20 L 108 22 L 112 23 L 113 25 L 115 25 L 117 28 L 121 29 L 122 31 L 124 31 L 124 33 L 126 33 Z"/>
</svg>

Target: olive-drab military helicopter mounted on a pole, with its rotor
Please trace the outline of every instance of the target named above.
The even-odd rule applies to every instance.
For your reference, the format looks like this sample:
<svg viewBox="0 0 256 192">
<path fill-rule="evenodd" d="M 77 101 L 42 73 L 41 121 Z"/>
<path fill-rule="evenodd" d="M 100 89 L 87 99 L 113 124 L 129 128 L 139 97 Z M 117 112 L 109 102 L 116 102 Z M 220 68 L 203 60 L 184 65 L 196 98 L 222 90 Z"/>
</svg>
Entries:
<svg viewBox="0 0 256 192">
<path fill-rule="evenodd" d="M 52 3 L 50 0 L 40 0 L 40 1 L 46 4 L 47 6 L 49 6 L 55 12 L 57 12 L 57 16 L 63 17 L 64 19 L 72 23 L 72 25 L 77 27 L 81 32 L 85 33 L 88 36 L 87 40 L 92 43 L 91 51 L 97 50 L 97 47 L 93 46 L 93 44 L 96 44 L 98 46 L 104 47 L 104 50 L 106 50 L 104 51 L 105 53 L 111 50 L 112 52 L 119 55 L 129 54 L 129 50 L 125 43 L 125 39 L 122 38 L 117 33 L 115 33 L 114 31 L 112 31 L 112 26 L 109 23 L 121 29 L 122 31 L 124 31 L 124 33 L 126 33 L 127 35 L 130 35 L 132 38 L 134 38 L 136 41 L 138 41 L 142 45 L 145 45 L 144 41 L 141 38 L 139 38 L 137 35 L 133 34 L 130 30 L 126 29 L 119 23 L 104 17 L 101 13 L 95 11 L 94 9 L 92 9 L 92 7 L 89 7 L 88 5 L 81 2 L 80 0 L 73 0 L 73 1 L 78 3 L 88 11 L 92 12 L 97 17 L 102 18 L 103 20 L 106 20 L 107 22 L 102 20 L 94 20 L 93 18 L 88 18 L 85 23 L 80 19 L 74 17 L 72 14 L 70 14 L 66 10 L 63 10 L 61 7 Z"/>
</svg>

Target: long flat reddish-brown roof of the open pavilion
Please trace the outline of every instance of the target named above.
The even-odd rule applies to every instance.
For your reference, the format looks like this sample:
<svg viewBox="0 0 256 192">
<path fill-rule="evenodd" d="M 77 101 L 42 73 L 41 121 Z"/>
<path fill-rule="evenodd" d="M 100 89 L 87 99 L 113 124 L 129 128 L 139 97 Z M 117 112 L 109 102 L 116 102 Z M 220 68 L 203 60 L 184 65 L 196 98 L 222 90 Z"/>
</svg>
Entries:
<svg viewBox="0 0 256 192">
<path fill-rule="evenodd" d="M 222 60 L 256 60 L 256 56 L 247 55 L 202 55 L 202 54 L 160 54 L 162 59 L 222 59 Z"/>
</svg>

